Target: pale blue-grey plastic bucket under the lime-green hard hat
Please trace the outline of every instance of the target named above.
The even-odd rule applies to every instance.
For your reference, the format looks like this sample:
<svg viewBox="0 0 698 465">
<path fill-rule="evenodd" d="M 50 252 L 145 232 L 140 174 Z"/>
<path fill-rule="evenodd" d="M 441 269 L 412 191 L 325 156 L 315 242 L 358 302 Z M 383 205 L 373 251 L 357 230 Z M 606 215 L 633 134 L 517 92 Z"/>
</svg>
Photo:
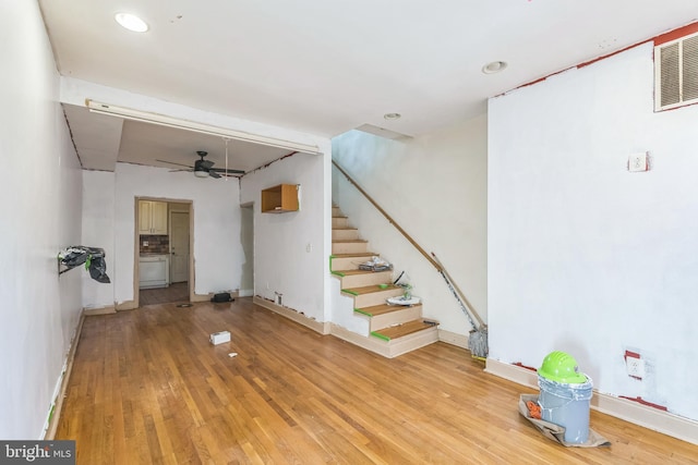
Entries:
<svg viewBox="0 0 698 465">
<path fill-rule="evenodd" d="M 539 375 L 538 399 L 545 421 L 565 427 L 565 442 L 581 444 L 589 439 L 589 403 L 592 395 L 591 378 L 587 382 L 564 383 Z"/>
</svg>

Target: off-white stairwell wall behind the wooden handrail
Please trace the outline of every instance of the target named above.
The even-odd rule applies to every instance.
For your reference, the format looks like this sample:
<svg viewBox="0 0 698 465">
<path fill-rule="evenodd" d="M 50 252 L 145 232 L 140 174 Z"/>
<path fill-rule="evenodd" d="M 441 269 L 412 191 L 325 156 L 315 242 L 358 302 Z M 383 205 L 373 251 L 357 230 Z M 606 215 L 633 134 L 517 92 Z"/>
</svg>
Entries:
<svg viewBox="0 0 698 465">
<path fill-rule="evenodd" d="M 408 140 L 359 131 L 333 139 L 333 158 L 429 254 L 436 254 L 486 320 L 486 119 L 484 115 Z M 333 195 L 352 225 L 406 271 L 423 314 L 457 334 L 471 329 L 435 268 L 387 220 L 333 171 Z"/>
</svg>

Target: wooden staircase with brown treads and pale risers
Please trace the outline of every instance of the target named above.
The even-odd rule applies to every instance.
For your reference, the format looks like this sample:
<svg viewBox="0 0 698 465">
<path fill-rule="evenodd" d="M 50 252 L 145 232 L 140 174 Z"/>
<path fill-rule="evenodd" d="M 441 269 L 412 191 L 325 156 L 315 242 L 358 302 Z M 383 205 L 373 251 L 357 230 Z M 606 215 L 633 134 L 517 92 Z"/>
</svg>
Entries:
<svg viewBox="0 0 698 465">
<path fill-rule="evenodd" d="M 438 341 L 437 322 L 422 318 L 422 305 L 388 305 L 388 297 L 404 294 L 393 284 L 393 271 L 360 270 L 359 265 L 380 256 L 333 206 L 329 271 L 340 280 L 341 294 L 353 298 L 354 318 L 368 320 L 365 334 L 350 331 L 335 335 L 393 358 Z"/>
</svg>

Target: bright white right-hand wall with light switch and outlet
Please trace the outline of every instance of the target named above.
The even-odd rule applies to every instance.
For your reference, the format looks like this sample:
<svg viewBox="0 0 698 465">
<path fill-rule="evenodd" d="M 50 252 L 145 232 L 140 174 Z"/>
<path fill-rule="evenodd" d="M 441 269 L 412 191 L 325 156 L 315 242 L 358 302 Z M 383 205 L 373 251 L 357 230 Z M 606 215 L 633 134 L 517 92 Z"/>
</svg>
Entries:
<svg viewBox="0 0 698 465">
<path fill-rule="evenodd" d="M 698 419 L 698 106 L 652 98 L 646 44 L 490 101 L 490 357 L 567 351 L 599 391 Z"/>
</svg>

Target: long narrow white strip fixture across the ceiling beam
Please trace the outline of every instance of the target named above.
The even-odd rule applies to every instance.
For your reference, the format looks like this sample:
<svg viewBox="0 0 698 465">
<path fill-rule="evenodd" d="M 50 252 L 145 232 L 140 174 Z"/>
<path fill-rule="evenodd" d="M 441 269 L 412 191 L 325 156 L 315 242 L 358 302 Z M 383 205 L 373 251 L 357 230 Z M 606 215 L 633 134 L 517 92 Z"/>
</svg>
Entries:
<svg viewBox="0 0 698 465">
<path fill-rule="evenodd" d="M 85 99 L 85 106 L 93 113 L 107 114 L 109 117 L 123 118 L 131 121 L 158 124 L 160 126 L 173 127 L 176 130 L 192 131 L 212 136 L 227 137 L 236 140 L 249 142 L 252 144 L 266 145 L 268 147 L 285 148 L 304 154 L 320 154 L 316 145 L 301 144 L 292 140 L 279 139 L 276 137 L 263 136 L 260 134 L 245 133 L 242 131 L 229 130 L 226 127 L 212 126 L 209 124 L 196 123 L 189 120 L 180 120 L 165 114 L 149 113 L 131 108 L 117 107 L 115 105 L 101 103 L 92 99 Z"/>
</svg>

